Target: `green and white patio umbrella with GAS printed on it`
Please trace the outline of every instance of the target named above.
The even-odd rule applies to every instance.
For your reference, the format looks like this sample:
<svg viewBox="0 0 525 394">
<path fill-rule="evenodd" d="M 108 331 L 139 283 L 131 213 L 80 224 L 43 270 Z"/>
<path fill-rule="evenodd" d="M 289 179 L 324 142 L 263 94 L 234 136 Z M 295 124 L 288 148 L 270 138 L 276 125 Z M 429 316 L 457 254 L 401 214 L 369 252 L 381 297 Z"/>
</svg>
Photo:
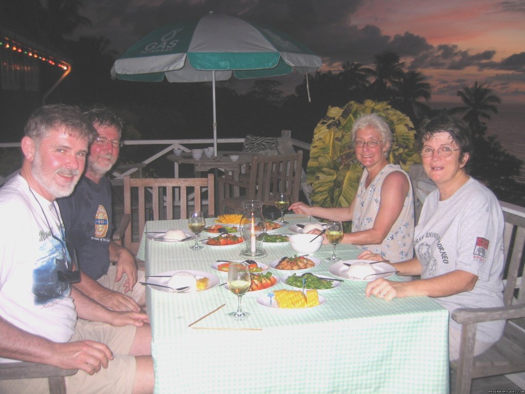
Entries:
<svg viewBox="0 0 525 394">
<path fill-rule="evenodd" d="M 209 13 L 196 22 L 153 30 L 115 61 L 113 77 L 130 81 L 212 82 L 217 154 L 215 81 L 314 72 L 321 58 L 287 35 L 242 19 Z M 308 82 L 308 79 L 307 79 Z"/>
</svg>

